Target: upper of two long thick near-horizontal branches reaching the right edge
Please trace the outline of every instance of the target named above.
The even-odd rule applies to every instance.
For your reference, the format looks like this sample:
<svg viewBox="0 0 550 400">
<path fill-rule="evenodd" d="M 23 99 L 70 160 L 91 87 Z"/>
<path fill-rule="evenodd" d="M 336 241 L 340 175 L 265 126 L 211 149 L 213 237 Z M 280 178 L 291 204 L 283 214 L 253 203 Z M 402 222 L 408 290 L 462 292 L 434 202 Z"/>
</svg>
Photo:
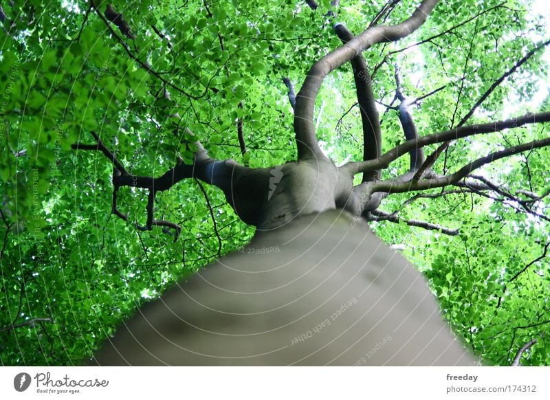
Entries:
<svg viewBox="0 0 550 400">
<path fill-rule="evenodd" d="M 518 128 L 525 124 L 539 124 L 541 122 L 550 121 L 550 112 L 527 114 L 518 118 L 512 118 L 510 120 L 489 122 L 487 124 L 476 124 L 471 126 L 463 126 L 461 128 L 451 129 L 450 131 L 443 131 L 434 133 L 432 135 L 421 136 L 417 140 L 409 140 L 404 144 L 395 146 L 391 151 L 384 153 L 377 160 L 371 160 L 366 162 L 349 162 L 341 168 L 345 168 L 353 175 L 358 173 L 364 173 L 369 170 L 378 168 L 387 168 L 391 162 L 395 161 L 399 157 L 407 154 L 409 151 L 417 148 L 427 146 L 428 144 L 436 144 L 448 142 L 450 140 L 461 139 L 472 135 L 478 135 L 480 133 L 494 133 L 503 131 L 504 129 Z"/>
</svg>

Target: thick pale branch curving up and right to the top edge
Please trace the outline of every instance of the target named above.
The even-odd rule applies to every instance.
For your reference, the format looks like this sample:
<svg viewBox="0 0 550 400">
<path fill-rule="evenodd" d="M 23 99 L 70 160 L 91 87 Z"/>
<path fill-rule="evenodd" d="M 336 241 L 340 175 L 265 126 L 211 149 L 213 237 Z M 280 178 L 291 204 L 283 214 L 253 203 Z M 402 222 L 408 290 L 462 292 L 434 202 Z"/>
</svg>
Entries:
<svg viewBox="0 0 550 400">
<path fill-rule="evenodd" d="M 314 107 L 325 76 L 344 63 L 351 61 L 352 58 L 375 43 L 397 41 L 408 36 L 426 21 L 426 17 L 436 4 L 437 0 L 423 0 L 406 21 L 393 26 L 369 27 L 362 34 L 333 50 L 311 67 L 298 96 L 296 96 L 294 132 L 298 146 L 298 159 L 315 158 L 321 153 L 315 134 Z"/>
</svg>

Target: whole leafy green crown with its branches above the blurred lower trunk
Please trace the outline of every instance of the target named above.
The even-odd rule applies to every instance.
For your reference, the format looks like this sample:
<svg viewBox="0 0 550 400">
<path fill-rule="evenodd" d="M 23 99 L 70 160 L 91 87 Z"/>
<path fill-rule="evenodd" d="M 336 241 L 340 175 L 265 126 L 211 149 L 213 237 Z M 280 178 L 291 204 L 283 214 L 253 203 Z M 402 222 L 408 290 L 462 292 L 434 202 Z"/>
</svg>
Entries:
<svg viewBox="0 0 550 400">
<path fill-rule="evenodd" d="M 89 357 L 254 227 L 337 208 L 404 248 L 485 362 L 536 339 L 522 364 L 547 364 L 544 20 L 416 6 L 0 8 L 1 362 Z"/>
</svg>

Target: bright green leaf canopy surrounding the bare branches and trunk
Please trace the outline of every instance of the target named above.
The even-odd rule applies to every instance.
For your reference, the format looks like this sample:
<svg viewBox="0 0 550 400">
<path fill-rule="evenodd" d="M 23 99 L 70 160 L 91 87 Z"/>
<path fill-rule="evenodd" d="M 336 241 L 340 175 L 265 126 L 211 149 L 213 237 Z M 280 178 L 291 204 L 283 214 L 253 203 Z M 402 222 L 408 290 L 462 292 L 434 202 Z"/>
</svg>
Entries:
<svg viewBox="0 0 550 400">
<path fill-rule="evenodd" d="M 311 64 L 340 45 L 327 21 L 328 1 L 317 12 L 303 1 L 111 3 L 135 40 L 102 21 L 88 1 L 3 5 L 9 21 L 0 29 L 0 364 L 83 362 L 135 307 L 217 256 L 210 210 L 194 181 L 155 199 L 156 215 L 183 227 L 177 241 L 161 227 L 141 232 L 133 222 L 144 224 L 146 192 L 122 188 L 119 207 L 130 222 L 117 219 L 110 214 L 112 165 L 99 152 L 74 151 L 72 144 L 94 144 L 90 131 L 96 131 L 135 175 L 162 175 L 178 156 L 189 161 L 196 140 L 218 159 L 251 167 L 283 164 L 296 157 L 296 146 L 282 78 L 288 76 L 298 91 Z M 338 19 L 358 34 L 386 1 L 342 3 Z M 392 101 L 398 63 L 406 96 L 445 87 L 413 107 L 420 135 L 456 126 L 492 82 L 548 39 L 528 1 L 495 8 L 498 3 L 443 1 L 415 34 L 367 51 L 369 68 L 377 67 L 377 99 Z M 107 2 L 96 4 L 103 11 Z M 401 1 L 386 23 L 402 21 L 415 5 Z M 483 10 L 449 34 L 391 53 Z M 548 93 L 540 90 L 548 87 L 542 54 L 505 80 L 471 122 L 547 108 Z M 327 78 L 316 104 L 319 140 L 337 164 L 362 157 L 359 111 L 354 107 L 344 115 L 354 102 L 351 67 L 344 65 Z M 237 119 L 243 122 L 246 158 Z M 404 137 L 395 111 L 383 120 L 387 151 Z M 489 151 L 548 134 L 546 126 L 534 126 L 461 140 L 434 169 L 456 170 Z M 541 149 L 490 164 L 483 175 L 511 193 L 542 195 L 550 190 L 549 161 L 550 151 Z M 395 176 L 407 164 L 402 157 L 384 175 Z M 253 230 L 219 190 L 206 191 L 221 254 L 238 249 Z M 543 254 L 548 221 L 518 212 L 520 205 L 500 197 L 457 193 L 404 206 L 412 195 L 388 197 L 383 208 L 460 234 L 405 223 L 374 227 L 388 243 L 406 244 L 404 253 L 429 278 L 456 333 L 487 364 L 502 365 L 536 337 L 522 363 L 549 364 L 549 258 L 510 281 Z M 533 211 L 547 214 L 548 206 L 546 197 Z M 10 329 L 12 324 L 19 327 Z"/>
</svg>

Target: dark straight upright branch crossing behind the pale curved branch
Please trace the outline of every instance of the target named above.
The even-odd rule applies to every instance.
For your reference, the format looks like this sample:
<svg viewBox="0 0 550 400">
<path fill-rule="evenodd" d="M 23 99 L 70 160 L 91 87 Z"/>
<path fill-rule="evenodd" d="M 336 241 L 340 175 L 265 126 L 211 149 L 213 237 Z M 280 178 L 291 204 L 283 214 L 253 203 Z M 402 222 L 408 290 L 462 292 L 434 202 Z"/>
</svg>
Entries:
<svg viewBox="0 0 550 400">
<path fill-rule="evenodd" d="M 337 24 L 334 30 L 344 44 L 353 39 L 353 34 L 342 24 Z M 377 159 L 382 154 L 380 116 L 376 109 L 371 76 L 362 54 L 351 59 L 351 67 L 363 126 L 363 160 Z M 380 170 L 373 170 L 363 175 L 364 182 L 373 179 L 380 179 Z"/>
</svg>

